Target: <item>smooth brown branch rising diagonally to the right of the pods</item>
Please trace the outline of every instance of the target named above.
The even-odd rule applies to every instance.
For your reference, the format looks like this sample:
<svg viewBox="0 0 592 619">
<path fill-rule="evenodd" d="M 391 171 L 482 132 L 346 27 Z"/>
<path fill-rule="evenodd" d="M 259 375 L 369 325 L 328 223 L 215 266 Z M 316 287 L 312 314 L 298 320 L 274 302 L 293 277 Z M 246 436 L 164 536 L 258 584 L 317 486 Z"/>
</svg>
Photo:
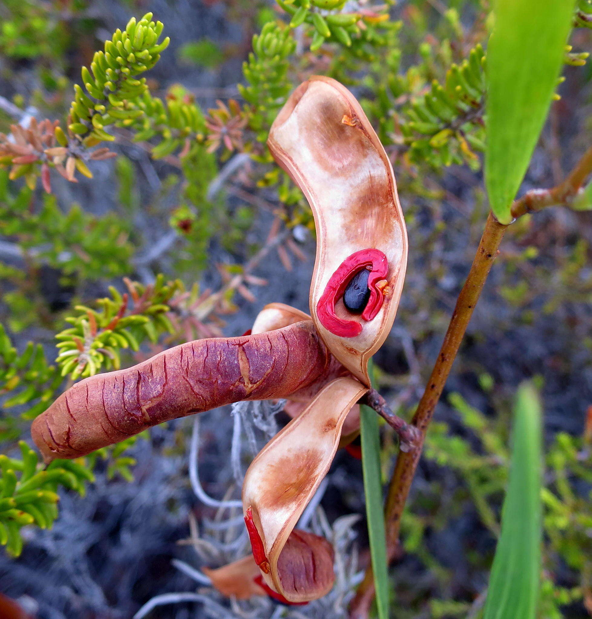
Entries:
<svg viewBox="0 0 592 619">
<path fill-rule="evenodd" d="M 529 191 L 512 204 L 511 214 L 517 219 L 521 215 L 541 210 L 546 206 L 557 204 L 568 206 L 581 191 L 581 186 L 590 173 L 592 173 L 592 147 L 585 152 L 562 183 L 551 189 Z M 432 420 L 433 412 L 442 395 L 446 379 L 448 379 L 464 333 L 507 228 L 507 225 L 499 223 L 491 213 L 487 217 L 481 242 L 463 289 L 458 295 L 440 354 L 412 420 L 412 424 L 420 430 L 419 448 L 409 452 L 399 451 L 385 504 L 386 548 L 390 561 L 398 553 L 401 516 L 419 463 L 428 425 Z M 350 605 L 350 619 L 368 617 L 373 598 L 374 582 L 372 566 L 369 566 Z"/>
</svg>

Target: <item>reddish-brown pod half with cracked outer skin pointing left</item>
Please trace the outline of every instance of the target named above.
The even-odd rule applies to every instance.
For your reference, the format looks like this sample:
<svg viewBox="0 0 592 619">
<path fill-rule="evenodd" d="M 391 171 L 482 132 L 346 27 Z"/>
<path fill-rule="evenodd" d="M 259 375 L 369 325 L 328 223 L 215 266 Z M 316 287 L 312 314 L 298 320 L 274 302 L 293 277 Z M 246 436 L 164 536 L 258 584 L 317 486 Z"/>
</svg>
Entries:
<svg viewBox="0 0 592 619">
<path fill-rule="evenodd" d="M 311 321 L 196 340 L 74 384 L 33 421 L 31 434 L 46 461 L 76 458 L 171 419 L 240 400 L 287 397 L 330 363 Z"/>
</svg>

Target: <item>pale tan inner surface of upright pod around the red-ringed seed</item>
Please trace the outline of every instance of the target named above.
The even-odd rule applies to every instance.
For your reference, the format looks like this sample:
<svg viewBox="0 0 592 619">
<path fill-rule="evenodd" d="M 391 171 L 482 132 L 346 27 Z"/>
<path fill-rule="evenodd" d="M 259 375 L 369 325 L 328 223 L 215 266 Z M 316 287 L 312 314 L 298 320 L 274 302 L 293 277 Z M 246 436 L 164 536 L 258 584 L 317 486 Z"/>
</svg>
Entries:
<svg viewBox="0 0 592 619">
<path fill-rule="evenodd" d="M 329 77 L 311 77 L 290 95 L 272 124 L 268 146 L 315 216 L 310 313 L 316 329 L 335 357 L 369 384 L 367 362 L 391 329 L 407 264 L 407 233 L 391 163 L 354 96 Z M 316 305 L 344 259 L 367 248 L 380 249 L 388 259 L 389 294 L 368 322 L 338 301 L 337 316 L 363 328 L 356 337 L 334 335 L 320 323 Z"/>
</svg>

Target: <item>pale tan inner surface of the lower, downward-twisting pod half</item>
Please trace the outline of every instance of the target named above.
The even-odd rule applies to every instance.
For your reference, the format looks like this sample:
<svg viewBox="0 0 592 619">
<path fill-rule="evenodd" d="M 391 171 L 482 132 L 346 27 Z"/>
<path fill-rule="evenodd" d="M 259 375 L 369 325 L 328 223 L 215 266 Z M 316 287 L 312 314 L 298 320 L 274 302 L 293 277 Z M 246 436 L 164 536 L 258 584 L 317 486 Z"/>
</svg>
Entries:
<svg viewBox="0 0 592 619">
<path fill-rule="evenodd" d="M 263 578 L 290 602 L 317 599 L 331 588 L 324 583 L 323 591 L 287 590 L 278 573 L 278 560 L 290 532 L 329 470 L 347 413 L 365 391 L 367 387 L 354 378 L 337 378 L 329 383 L 304 412 L 269 441 L 246 472 L 243 511 L 246 516 L 251 509 L 269 561 L 270 573 L 263 573 Z M 314 571 L 314 561 L 311 555 L 311 565 L 301 568 Z"/>
</svg>

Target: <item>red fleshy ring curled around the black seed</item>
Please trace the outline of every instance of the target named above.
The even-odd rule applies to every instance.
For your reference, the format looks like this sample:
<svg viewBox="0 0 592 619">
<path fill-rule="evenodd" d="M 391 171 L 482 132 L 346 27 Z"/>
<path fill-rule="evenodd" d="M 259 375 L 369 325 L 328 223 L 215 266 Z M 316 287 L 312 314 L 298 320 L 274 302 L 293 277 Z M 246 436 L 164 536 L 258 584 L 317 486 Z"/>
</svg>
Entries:
<svg viewBox="0 0 592 619">
<path fill-rule="evenodd" d="M 318 319 L 323 327 L 334 335 L 355 337 L 362 332 L 362 325 L 359 322 L 337 317 L 335 303 L 345 292 L 347 284 L 349 284 L 352 277 L 363 271 L 363 269 L 370 271 L 368 276 L 370 298 L 362 312 L 362 319 L 365 321 L 372 320 L 382 306 L 385 295 L 382 288 L 377 284 L 386 278 L 388 261 L 380 249 L 360 249 L 360 251 L 356 251 L 351 256 L 348 256 L 337 267 L 316 305 Z"/>
</svg>

